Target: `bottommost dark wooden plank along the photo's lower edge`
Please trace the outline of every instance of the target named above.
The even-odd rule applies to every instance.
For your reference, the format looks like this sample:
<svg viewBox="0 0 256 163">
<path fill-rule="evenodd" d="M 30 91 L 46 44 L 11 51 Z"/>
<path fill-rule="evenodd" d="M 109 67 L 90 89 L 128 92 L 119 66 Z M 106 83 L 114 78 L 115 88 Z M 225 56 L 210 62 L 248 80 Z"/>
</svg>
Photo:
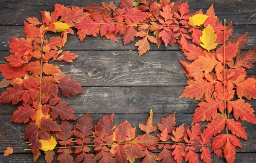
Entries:
<svg viewBox="0 0 256 163">
<path fill-rule="evenodd" d="M 157 153 L 158 154 L 158 153 Z M 212 163 L 226 163 L 224 158 L 217 157 L 215 154 L 212 155 Z M 200 154 L 199 154 L 200 157 Z M 255 163 L 255 153 L 236 153 L 236 159 L 234 163 Z M 33 163 L 33 155 L 32 154 L 12 154 L 8 157 L 3 157 L 3 154 L 0 155 L 1 163 Z M 141 163 L 142 159 L 136 159 L 134 163 Z M 45 163 L 44 154 L 38 158 L 36 163 Z M 52 163 L 58 163 L 57 154 L 55 154 Z M 161 163 L 161 161 L 157 161 L 157 163 Z M 200 160 L 200 163 L 203 161 Z"/>
</svg>

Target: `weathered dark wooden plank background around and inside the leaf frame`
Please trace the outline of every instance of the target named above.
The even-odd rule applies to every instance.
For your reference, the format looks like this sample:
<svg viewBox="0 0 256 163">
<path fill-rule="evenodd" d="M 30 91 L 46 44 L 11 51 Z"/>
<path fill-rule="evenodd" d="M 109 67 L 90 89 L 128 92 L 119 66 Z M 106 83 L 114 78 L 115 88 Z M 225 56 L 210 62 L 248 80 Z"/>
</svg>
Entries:
<svg viewBox="0 0 256 163">
<path fill-rule="evenodd" d="M 23 20 L 26 17 L 40 18 L 40 11 L 52 11 L 53 4 L 56 3 L 82 7 L 101 1 L 0 0 L 0 62 L 6 62 L 4 57 L 9 55 L 7 42 L 11 37 L 24 37 Z M 119 5 L 119 0 L 103 1 Z M 205 12 L 213 4 L 220 20 L 226 19 L 227 23 L 233 21 L 233 36 L 248 31 L 248 44 L 245 49 L 256 48 L 256 0 L 188 2 L 192 12 L 201 8 Z M 115 124 L 128 120 L 132 126 L 138 127 L 138 123 L 145 123 L 148 112 L 153 109 L 155 125 L 160 122 L 161 117 L 173 112 L 176 112 L 177 125 L 190 125 L 198 102 L 179 98 L 186 86 L 186 77 L 178 62 L 178 59 L 185 60 L 185 57 L 178 46 L 172 48 L 161 45 L 158 49 L 157 45 L 151 44 L 151 51 L 138 57 L 135 41 L 123 46 L 120 36 L 118 40 L 120 43 L 103 37 L 86 37 L 84 43 L 80 43 L 76 35 L 68 35 L 63 49 L 70 50 L 79 57 L 73 63 L 56 64 L 64 74 L 71 74 L 85 91 L 84 94 L 63 97 L 73 107 L 76 117 L 90 112 L 95 124 L 105 114 L 115 113 Z M 253 74 L 256 74 L 256 69 L 248 70 L 248 75 Z M 0 93 L 3 91 L 1 89 Z M 250 103 L 256 109 L 256 100 L 251 100 Z M 29 148 L 23 140 L 26 124 L 10 121 L 18 106 L 1 103 L 0 107 L 0 163 L 32 163 L 31 152 L 24 151 Z M 235 162 L 253 163 L 256 160 L 256 126 L 241 123 L 248 134 L 248 141 L 241 140 L 242 149 L 236 148 Z M 14 154 L 3 157 L 3 151 L 9 146 L 14 149 Z M 44 154 L 37 162 L 44 162 Z M 224 162 L 224 159 L 212 154 L 212 162 Z"/>
</svg>

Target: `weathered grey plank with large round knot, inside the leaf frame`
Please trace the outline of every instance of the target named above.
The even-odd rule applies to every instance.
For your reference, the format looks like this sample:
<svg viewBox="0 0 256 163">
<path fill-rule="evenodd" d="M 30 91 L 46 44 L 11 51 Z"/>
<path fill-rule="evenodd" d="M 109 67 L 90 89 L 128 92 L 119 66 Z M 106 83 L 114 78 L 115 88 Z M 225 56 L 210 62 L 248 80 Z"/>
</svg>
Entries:
<svg viewBox="0 0 256 163">
<path fill-rule="evenodd" d="M 64 74 L 71 74 L 81 86 L 186 86 L 187 79 L 178 59 L 181 51 L 72 51 L 79 57 L 73 63 L 54 61 Z M 10 53 L 1 51 L 0 60 Z M 117 55 L 116 55 L 117 54 Z M 256 69 L 247 70 L 255 75 Z"/>
</svg>

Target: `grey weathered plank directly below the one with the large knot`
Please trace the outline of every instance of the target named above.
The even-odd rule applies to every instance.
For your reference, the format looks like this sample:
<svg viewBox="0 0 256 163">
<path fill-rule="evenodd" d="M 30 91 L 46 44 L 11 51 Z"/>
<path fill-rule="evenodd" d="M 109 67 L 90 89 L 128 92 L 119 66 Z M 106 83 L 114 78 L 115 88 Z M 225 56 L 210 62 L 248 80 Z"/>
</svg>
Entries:
<svg viewBox="0 0 256 163">
<path fill-rule="evenodd" d="M 198 101 L 179 98 L 184 87 L 84 87 L 84 94 L 60 97 L 69 103 L 76 114 L 146 114 L 153 109 L 157 114 L 170 112 L 191 114 Z M 3 91 L 4 89 L 1 89 Z M 256 100 L 247 100 L 256 109 Z M 21 106 L 0 103 L 0 114 L 13 114 Z"/>
</svg>

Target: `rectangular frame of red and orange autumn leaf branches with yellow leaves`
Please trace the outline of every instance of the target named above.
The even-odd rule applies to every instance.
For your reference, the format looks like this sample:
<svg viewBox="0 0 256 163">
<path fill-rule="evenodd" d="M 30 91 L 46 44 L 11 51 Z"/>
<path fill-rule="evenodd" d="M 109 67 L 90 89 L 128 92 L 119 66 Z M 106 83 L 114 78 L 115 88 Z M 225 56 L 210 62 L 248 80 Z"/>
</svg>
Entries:
<svg viewBox="0 0 256 163">
<path fill-rule="evenodd" d="M 29 123 L 24 137 L 29 139 L 35 160 L 41 155 L 41 149 L 50 163 L 55 154 L 53 149 L 58 149 L 58 160 L 67 163 L 74 160 L 123 163 L 141 157 L 144 157 L 143 163 L 155 163 L 155 160 L 181 163 L 183 159 L 197 163 L 195 150 L 199 148 L 201 160 L 210 163 L 207 147 L 212 136 L 218 134 L 212 141 L 212 151 L 225 157 L 228 163 L 234 161 L 235 147 L 241 148 L 238 137 L 247 140 L 237 120 L 256 124 L 254 110 L 242 99 L 256 98 L 256 78 L 247 77 L 245 70 L 253 68 L 256 49 L 241 51 L 247 43 L 247 33 L 228 40 L 233 33 L 232 22 L 226 26 L 224 20 L 223 25 L 215 16 L 213 6 L 204 14 L 202 9 L 189 13 L 187 2 L 120 0 L 119 8 L 104 2 L 82 8 L 56 4 L 53 12 L 41 11 L 41 14 L 41 22 L 35 17 L 27 18 L 28 23 L 24 21 L 26 38 L 12 38 L 9 42 L 12 55 L 6 57 L 9 63 L 0 65 L 5 77 L 0 87 L 12 86 L 2 93 L 0 102 L 15 105 L 22 101 L 11 120 Z M 191 61 L 180 60 L 189 79 L 189 86 L 180 97 L 201 101 L 192 120 L 195 125 L 191 129 L 183 125 L 175 129 L 175 114 L 171 114 L 158 123 L 160 134 L 154 137 L 150 133 L 157 128 L 153 126 L 150 112 L 147 123 L 139 124 L 145 134 L 135 137 L 135 128 L 127 121 L 113 126 L 113 114 L 104 116 L 94 131 L 90 114 L 79 118 L 75 126 L 67 122 L 75 120 L 74 112 L 58 97 L 58 90 L 67 97 L 84 91 L 70 75 L 63 75 L 59 67 L 50 62 L 72 62 L 78 57 L 61 50 L 67 34 L 75 33 L 73 29 L 77 30 L 81 42 L 87 35 L 105 36 L 118 42 L 116 35 L 120 34 L 126 45 L 135 37 L 142 37 L 135 44 L 139 56 L 149 51 L 148 40 L 158 46 L 161 43 L 174 46 L 177 42 Z M 61 32 L 61 36 L 48 39 L 49 31 Z M 218 45 L 218 49 L 213 50 Z M 236 95 L 239 99 L 233 100 Z M 232 112 L 234 118 L 230 116 Z M 57 118 L 64 120 L 60 126 L 55 121 Z M 201 121 L 210 121 L 202 133 Z M 224 129 L 226 133 L 222 134 Z M 60 147 L 55 147 L 57 142 Z M 156 146 L 162 150 L 158 156 L 150 152 Z M 96 155 L 90 152 L 90 147 Z M 7 149 L 6 155 L 11 152 Z"/>
</svg>

